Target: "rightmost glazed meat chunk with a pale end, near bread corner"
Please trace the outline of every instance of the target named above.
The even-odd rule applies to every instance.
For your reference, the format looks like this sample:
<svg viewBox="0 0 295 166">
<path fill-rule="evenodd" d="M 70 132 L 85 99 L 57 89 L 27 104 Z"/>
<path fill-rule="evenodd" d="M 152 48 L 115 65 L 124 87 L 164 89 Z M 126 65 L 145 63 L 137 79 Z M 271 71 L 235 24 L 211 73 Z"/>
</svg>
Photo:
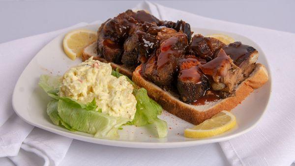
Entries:
<svg viewBox="0 0 295 166">
<path fill-rule="evenodd" d="M 223 50 L 233 59 L 236 66 L 242 70 L 242 76 L 239 78 L 238 83 L 248 78 L 254 70 L 255 63 L 258 59 L 258 51 L 241 42 L 234 42 L 224 46 Z"/>
</svg>

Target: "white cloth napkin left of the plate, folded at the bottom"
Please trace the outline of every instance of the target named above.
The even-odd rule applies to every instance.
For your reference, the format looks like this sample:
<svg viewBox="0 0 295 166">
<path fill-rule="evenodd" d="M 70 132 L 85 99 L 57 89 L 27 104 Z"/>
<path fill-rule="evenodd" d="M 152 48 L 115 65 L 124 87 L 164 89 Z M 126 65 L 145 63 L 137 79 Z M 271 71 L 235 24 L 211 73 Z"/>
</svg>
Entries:
<svg viewBox="0 0 295 166">
<path fill-rule="evenodd" d="M 85 25 L 80 23 L 0 44 L 0 157 L 9 157 L 14 164 L 22 166 L 55 166 L 65 156 L 72 139 L 33 129 L 14 113 L 11 96 L 18 77 L 42 47 L 59 33 Z"/>
</svg>

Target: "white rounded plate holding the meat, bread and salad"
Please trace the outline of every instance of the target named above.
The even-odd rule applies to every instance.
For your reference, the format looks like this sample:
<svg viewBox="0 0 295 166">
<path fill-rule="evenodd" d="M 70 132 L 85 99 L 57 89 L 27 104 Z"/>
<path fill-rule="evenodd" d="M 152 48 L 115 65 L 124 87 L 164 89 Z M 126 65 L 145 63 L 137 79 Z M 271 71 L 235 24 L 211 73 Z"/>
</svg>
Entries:
<svg viewBox="0 0 295 166">
<path fill-rule="evenodd" d="M 90 25 L 83 28 L 97 30 L 98 27 L 99 25 Z M 192 28 L 192 30 L 203 35 L 224 33 L 232 36 L 236 41 L 241 41 L 243 44 L 253 46 L 260 53 L 258 62 L 266 65 L 267 69 L 269 68 L 266 56 L 260 47 L 244 36 L 210 29 Z M 167 138 L 156 138 L 156 134 L 153 133 L 153 130 L 149 130 L 146 127 L 135 126 L 124 126 L 123 130 L 119 130 L 120 138 L 118 140 L 98 139 L 82 132 L 68 131 L 51 122 L 46 114 L 46 106 L 50 98 L 38 86 L 40 75 L 62 75 L 70 66 L 81 62 L 80 59 L 72 61 L 63 53 L 63 37 L 64 34 L 61 34 L 52 40 L 30 61 L 16 83 L 13 92 L 12 103 L 15 112 L 29 124 L 41 129 L 69 138 L 112 146 L 136 148 L 184 147 L 224 141 L 244 134 L 255 127 L 266 110 L 271 89 L 270 78 L 263 87 L 255 90 L 232 111 L 236 116 L 237 127 L 216 137 L 203 139 L 184 138 L 184 129 L 191 127 L 192 124 L 166 111 L 163 111 L 161 118 L 166 120 L 169 126 Z"/>
</svg>

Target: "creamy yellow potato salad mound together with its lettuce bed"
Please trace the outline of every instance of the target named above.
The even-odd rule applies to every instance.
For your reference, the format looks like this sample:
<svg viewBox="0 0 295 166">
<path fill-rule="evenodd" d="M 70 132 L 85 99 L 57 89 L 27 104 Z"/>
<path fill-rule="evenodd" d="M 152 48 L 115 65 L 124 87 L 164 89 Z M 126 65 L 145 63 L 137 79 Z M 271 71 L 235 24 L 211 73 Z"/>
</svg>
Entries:
<svg viewBox="0 0 295 166">
<path fill-rule="evenodd" d="M 39 86 L 51 97 L 51 121 L 72 132 L 116 139 L 123 125 L 154 125 L 159 138 L 167 136 L 167 123 L 157 116 L 162 107 L 109 63 L 89 58 L 64 75 L 41 75 Z"/>
</svg>

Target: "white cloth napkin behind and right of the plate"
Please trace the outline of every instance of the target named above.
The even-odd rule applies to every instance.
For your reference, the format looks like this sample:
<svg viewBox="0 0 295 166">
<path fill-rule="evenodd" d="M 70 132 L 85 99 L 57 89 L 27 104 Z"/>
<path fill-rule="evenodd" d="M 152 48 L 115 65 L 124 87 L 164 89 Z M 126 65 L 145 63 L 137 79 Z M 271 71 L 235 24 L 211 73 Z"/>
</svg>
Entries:
<svg viewBox="0 0 295 166">
<path fill-rule="evenodd" d="M 295 34 L 209 19 L 151 2 L 137 8 L 149 10 L 162 20 L 182 19 L 192 27 L 234 32 L 258 43 L 272 77 L 267 111 L 251 132 L 220 142 L 220 146 L 234 166 L 287 166 L 295 161 Z"/>
</svg>

